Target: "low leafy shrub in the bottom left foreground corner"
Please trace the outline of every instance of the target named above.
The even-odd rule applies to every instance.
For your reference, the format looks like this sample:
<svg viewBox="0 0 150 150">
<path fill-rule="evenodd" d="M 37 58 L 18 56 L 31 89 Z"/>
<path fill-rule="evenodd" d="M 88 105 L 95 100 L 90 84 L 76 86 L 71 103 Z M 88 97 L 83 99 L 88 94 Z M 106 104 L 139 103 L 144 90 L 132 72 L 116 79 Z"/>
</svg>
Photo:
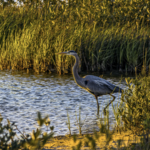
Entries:
<svg viewBox="0 0 150 150">
<path fill-rule="evenodd" d="M 50 126 L 48 116 L 42 118 L 41 113 L 37 114 L 37 122 L 39 128 L 33 130 L 31 134 L 23 134 L 15 125 L 7 120 L 7 124 L 3 125 L 2 116 L 0 115 L 0 150 L 18 150 L 18 149 L 42 149 L 46 142 L 54 135 L 53 126 Z M 50 133 L 42 132 L 41 127 L 44 125 L 50 127 Z M 17 138 L 15 129 L 20 132 L 20 137 Z"/>
</svg>

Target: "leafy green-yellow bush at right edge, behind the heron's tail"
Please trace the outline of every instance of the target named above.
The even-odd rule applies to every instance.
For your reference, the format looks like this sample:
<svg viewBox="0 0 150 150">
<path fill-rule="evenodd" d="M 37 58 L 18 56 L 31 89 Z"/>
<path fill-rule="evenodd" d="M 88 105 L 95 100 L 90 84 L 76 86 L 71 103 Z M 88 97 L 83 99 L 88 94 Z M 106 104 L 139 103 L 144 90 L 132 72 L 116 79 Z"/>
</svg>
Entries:
<svg viewBox="0 0 150 150">
<path fill-rule="evenodd" d="M 119 114 L 125 128 L 138 133 L 145 129 L 145 123 L 150 118 L 150 77 L 127 78 L 126 83 L 128 89 L 122 94 L 124 105 Z"/>
</svg>

